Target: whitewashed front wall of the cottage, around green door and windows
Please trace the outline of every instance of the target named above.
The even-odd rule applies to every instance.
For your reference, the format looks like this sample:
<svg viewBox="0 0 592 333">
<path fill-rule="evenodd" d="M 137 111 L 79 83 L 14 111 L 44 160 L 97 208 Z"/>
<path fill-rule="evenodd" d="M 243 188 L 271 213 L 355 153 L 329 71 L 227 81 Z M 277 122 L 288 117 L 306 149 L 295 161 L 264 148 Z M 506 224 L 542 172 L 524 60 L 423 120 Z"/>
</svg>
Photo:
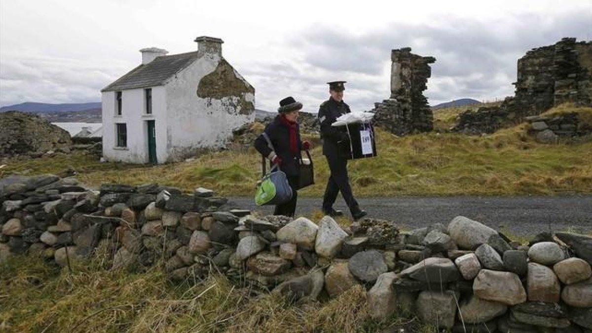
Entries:
<svg viewBox="0 0 592 333">
<path fill-rule="evenodd" d="M 152 114 L 144 110 L 144 89 L 124 90 L 121 94 L 121 116 L 115 115 L 115 92 L 102 93 L 103 157 L 108 161 L 129 163 L 148 162 L 147 120 L 155 120 L 156 158 L 159 163 L 166 161 L 166 90 L 152 87 Z M 115 124 L 127 125 L 127 148 L 115 147 L 117 129 Z"/>
</svg>

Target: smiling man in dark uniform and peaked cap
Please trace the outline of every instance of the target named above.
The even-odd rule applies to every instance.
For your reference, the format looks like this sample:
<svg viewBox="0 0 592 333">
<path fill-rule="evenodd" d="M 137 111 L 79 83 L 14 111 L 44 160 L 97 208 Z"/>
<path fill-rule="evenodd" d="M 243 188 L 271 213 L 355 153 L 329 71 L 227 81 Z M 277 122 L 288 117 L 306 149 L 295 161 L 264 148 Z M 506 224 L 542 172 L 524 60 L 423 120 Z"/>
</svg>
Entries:
<svg viewBox="0 0 592 333">
<path fill-rule="evenodd" d="M 341 191 L 343 200 L 348 204 L 354 220 L 366 216 L 366 212 L 358 206 L 353 198 L 352 187 L 349 185 L 348 159 L 344 153 L 349 153 L 349 136 L 331 126 L 339 116 L 350 113 L 349 105 L 343 102 L 345 81 L 327 82 L 329 84 L 329 100 L 324 101 L 318 109 L 318 120 L 321 124 L 321 138 L 323 139 L 323 155 L 327 158 L 331 175 L 327 181 L 327 188 L 323 196 L 323 213 L 329 216 L 340 216 L 343 213 L 333 208 L 337 193 Z"/>
</svg>

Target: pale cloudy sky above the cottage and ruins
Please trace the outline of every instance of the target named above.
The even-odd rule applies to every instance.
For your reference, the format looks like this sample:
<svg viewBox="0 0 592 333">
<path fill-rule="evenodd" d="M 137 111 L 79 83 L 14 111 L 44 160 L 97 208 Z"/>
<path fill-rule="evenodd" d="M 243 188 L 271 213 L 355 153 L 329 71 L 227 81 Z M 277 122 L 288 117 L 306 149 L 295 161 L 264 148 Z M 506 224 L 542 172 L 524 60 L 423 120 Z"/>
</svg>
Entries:
<svg viewBox="0 0 592 333">
<path fill-rule="evenodd" d="M 222 55 L 253 87 L 256 108 L 289 95 L 316 112 L 329 81 L 368 111 L 390 97 L 391 50 L 433 56 L 430 105 L 514 94 L 517 60 L 562 37 L 592 40 L 592 0 L 0 1 L 0 106 L 88 103 L 141 62 L 140 49 Z"/>
</svg>

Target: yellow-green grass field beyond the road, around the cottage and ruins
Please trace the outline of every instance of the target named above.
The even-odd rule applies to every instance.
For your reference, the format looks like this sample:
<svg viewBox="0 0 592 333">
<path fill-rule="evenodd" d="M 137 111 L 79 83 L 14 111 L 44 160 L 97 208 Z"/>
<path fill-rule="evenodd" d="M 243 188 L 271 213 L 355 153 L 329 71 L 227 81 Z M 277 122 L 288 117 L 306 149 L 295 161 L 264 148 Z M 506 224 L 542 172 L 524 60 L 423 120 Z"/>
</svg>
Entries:
<svg viewBox="0 0 592 333">
<path fill-rule="evenodd" d="M 592 108 L 577 110 L 592 124 Z M 549 113 L 561 113 L 556 108 Z M 564 140 L 558 145 L 535 142 L 526 124 L 493 135 L 425 133 L 397 137 L 377 130 L 375 158 L 348 164 L 357 196 L 451 196 L 562 194 L 592 192 L 592 140 Z M 592 125 L 591 125 L 592 126 Z M 262 129 L 262 126 L 259 127 Z M 322 196 L 329 169 L 320 140 L 311 151 L 317 184 L 301 196 Z M 191 161 L 156 166 L 101 163 L 96 157 L 74 153 L 39 159 L 11 159 L 0 169 L 10 174 L 60 174 L 71 166 L 84 184 L 158 182 L 192 192 L 207 187 L 221 196 L 250 196 L 260 177 L 260 155 L 247 151 L 206 152 Z"/>
</svg>

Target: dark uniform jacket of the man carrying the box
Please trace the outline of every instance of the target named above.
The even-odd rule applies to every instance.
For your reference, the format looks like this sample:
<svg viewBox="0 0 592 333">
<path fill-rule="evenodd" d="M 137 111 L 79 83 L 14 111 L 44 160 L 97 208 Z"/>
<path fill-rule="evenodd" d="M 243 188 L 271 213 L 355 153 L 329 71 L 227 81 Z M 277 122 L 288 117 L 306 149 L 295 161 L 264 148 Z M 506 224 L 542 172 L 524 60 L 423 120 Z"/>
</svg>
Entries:
<svg viewBox="0 0 592 333">
<path fill-rule="evenodd" d="M 349 152 L 349 137 L 347 133 L 340 132 L 337 127 L 331 126 L 339 116 L 350 113 L 349 105 L 344 101 L 337 102 L 333 97 L 324 101 L 318 109 L 318 121 L 321 125 L 321 138 L 323 138 L 323 155 L 346 156 Z"/>
</svg>

